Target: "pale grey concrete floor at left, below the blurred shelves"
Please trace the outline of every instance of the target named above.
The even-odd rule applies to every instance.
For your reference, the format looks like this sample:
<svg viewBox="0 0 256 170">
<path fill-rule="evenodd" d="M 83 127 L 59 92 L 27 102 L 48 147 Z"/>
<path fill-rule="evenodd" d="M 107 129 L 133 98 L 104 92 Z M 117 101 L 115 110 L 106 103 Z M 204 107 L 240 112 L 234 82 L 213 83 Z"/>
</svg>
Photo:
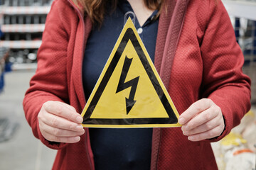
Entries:
<svg viewBox="0 0 256 170">
<path fill-rule="evenodd" d="M 23 96 L 35 70 L 6 73 L 4 91 L 0 94 L 0 119 L 18 123 L 10 140 L 0 142 L 1 170 L 51 169 L 56 151 L 33 136 L 23 113 Z"/>
</svg>

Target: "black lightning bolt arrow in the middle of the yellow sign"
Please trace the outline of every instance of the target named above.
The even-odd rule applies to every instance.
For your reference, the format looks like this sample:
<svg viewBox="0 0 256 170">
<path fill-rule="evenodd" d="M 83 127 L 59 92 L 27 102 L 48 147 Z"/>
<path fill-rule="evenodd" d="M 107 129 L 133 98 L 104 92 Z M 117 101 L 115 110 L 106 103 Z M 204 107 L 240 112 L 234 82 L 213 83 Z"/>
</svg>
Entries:
<svg viewBox="0 0 256 170">
<path fill-rule="evenodd" d="M 134 101 L 134 96 L 135 96 L 135 92 L 136 92 L 138 81 L 139 81 L 139 77 L 136 77 L 136 78 L 131 79 L 124 83 L 124 81 L 127 77 L 127 73 L 129 71 L 129 67 L 131 66 L 131 63 L 132 63 L 132 59 L 129 59 L 126 56 L 125 60 L 124 60 L 124 66 L 122 68 L 121 77 L 119 79 L 119 83 L 118 83 L 117 91 L 116 91 L 116 94 L 117 94 L 119 91 L 123 91 L 124 89 L 127 89 L 130 86 L 132 86 L 130 94 L 129 94 L 129 98 L 125 98 L 126 99 L 126 107 L 127 107 L 127 115 L 129 114 L 129 111 L 131 111 L 132 107 L 134 106 L 134 104 L 136 102 L 136 101 Z"/>
</svg>

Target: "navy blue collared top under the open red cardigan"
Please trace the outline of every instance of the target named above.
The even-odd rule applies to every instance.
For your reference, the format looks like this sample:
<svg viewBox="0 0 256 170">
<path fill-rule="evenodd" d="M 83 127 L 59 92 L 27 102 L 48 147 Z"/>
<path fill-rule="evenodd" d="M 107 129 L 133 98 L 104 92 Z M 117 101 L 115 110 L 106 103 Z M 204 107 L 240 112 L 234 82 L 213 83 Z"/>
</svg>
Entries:
<svg viewBox="0 0 256 170">
<path fill-rule="evenodd" d="M 103 67 L 124 26 L 124 14 L 133 11 L 128 1 L 119 1 L 117 9 L 105 16 L 100 29 L 93 28 L 87 40 L 82 63 L 85 98 L 89 98 Z M 154 61 L 158 20 L 154 11 L 143 26 L 136 19 L 135 27 Z M 90 128 L 90 141 L 95 169 L 150 169 L 152 128 Z"/>
</svg>

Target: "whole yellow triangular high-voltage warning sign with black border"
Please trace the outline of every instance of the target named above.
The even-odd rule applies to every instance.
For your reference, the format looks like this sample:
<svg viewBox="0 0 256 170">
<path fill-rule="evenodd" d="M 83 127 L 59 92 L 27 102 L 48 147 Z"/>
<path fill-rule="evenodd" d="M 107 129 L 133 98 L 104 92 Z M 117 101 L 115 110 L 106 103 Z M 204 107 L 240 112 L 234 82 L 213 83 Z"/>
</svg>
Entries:
<svg viewBox="0 0 256 170">
<path fill-rule="evenodd" d="M 84 127 L 179 127 L 178 112 L 131 18 L 82 111 Z"/>
</svg>

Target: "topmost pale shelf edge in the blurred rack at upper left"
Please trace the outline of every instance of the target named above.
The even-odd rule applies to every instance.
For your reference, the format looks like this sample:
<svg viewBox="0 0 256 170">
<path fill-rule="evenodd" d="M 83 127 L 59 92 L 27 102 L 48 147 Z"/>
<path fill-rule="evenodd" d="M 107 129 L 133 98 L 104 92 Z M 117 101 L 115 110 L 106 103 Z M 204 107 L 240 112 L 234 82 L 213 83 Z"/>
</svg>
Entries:
<svg viewBox="0 0 256 170">
<path fill-rule="evenodd" d="M 0 11 L 6 15 L 47 14 L 50 6 L 1 6 Z"/>
</svg>

